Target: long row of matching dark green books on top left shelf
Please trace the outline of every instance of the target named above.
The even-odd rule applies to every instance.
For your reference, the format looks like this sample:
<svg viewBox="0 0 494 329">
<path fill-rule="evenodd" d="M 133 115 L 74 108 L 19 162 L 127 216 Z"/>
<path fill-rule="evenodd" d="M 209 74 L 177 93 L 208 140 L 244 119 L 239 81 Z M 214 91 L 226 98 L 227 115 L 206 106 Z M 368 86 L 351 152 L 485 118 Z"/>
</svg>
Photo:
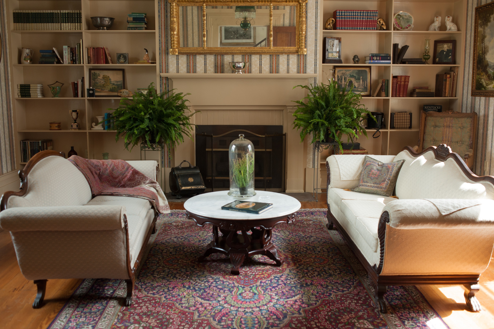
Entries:
<svg viewBox="0 0 494 329">
<path fill-rule="evenodd" d="M 81 10 L 13 10 L 14 30 L 82 30 Z"/>
</svg>

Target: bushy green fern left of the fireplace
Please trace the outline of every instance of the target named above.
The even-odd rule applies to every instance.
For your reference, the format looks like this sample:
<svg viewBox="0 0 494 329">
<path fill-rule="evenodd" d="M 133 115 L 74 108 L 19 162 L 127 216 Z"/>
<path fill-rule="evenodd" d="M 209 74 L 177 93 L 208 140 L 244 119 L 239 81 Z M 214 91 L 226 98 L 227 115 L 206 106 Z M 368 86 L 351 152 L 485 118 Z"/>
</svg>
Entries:
<svg viewBox="0 0 494 329">
<path fill-rule="evenodd" d="M 138 143 L 147 144 L 149 148 L 159 143 L 175 147 L 184 141 L 184 135 L 191 137 L 190 117 L 193 114 L 185 115 L 188 100 L 184 99 L 190 94 L 172 91 L 158 94 L 151 83 L 147 94 L 135 93 L 132 99 L 122 98 L 113 112 L 115 139 L 118 141 L 122 136 L 128 150 L 129 146 L 132 149 Z"/>
</svg>

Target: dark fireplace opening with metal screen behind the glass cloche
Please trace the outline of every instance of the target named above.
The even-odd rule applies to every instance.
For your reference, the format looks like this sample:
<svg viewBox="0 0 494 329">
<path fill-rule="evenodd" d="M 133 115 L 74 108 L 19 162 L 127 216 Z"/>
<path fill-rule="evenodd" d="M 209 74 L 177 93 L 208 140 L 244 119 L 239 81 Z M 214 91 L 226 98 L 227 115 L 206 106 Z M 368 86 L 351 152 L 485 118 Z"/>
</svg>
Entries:
<svg viewBox="0 0 494 329">
<path fill-rule="evenodd" d="M 230 187 L 228 149 L 239 134 L 244 134 L 254 145 L 254 187 L 284 192 L 286 134 L 282 125 L 197 125 L 196 165 L 207 190 Z"/>
</svg>

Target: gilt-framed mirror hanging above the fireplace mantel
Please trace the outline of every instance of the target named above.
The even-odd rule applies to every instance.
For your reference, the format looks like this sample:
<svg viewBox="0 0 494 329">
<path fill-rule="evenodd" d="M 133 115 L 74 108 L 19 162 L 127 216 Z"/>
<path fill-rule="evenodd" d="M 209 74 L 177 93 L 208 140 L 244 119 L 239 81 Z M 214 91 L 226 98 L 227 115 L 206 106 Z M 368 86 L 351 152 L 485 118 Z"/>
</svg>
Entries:
<svg viewBox="0 0 494 329">
<path fill-rule="evenodd" d="M 307 53 L 307 0 L 168 2 L 170 55 Z"/>
</svg>

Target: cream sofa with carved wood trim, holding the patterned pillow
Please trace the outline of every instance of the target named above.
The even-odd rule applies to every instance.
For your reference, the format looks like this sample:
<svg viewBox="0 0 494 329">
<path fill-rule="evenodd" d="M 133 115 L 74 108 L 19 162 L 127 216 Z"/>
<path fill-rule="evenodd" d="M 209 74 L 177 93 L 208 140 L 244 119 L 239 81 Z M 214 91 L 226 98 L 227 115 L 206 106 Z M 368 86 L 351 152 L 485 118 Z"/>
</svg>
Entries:
<svg viewBox="0 0 494 329">
<path fill-rule="evenodd" d="M 327 159 L 328 229 L 336 226 L 366 268 L 376 306 L 386 312 L 386 286 L 460 284 L 479 311 L 474 294 L 494 247 L 494 177 L 476 176 L 444 144 L 420 153 L 406 147 L 397 156 L 370 155 L 405 160 L 398 199 L 345 191 L 358 185 L 364 157 Z"/>
</svg>

